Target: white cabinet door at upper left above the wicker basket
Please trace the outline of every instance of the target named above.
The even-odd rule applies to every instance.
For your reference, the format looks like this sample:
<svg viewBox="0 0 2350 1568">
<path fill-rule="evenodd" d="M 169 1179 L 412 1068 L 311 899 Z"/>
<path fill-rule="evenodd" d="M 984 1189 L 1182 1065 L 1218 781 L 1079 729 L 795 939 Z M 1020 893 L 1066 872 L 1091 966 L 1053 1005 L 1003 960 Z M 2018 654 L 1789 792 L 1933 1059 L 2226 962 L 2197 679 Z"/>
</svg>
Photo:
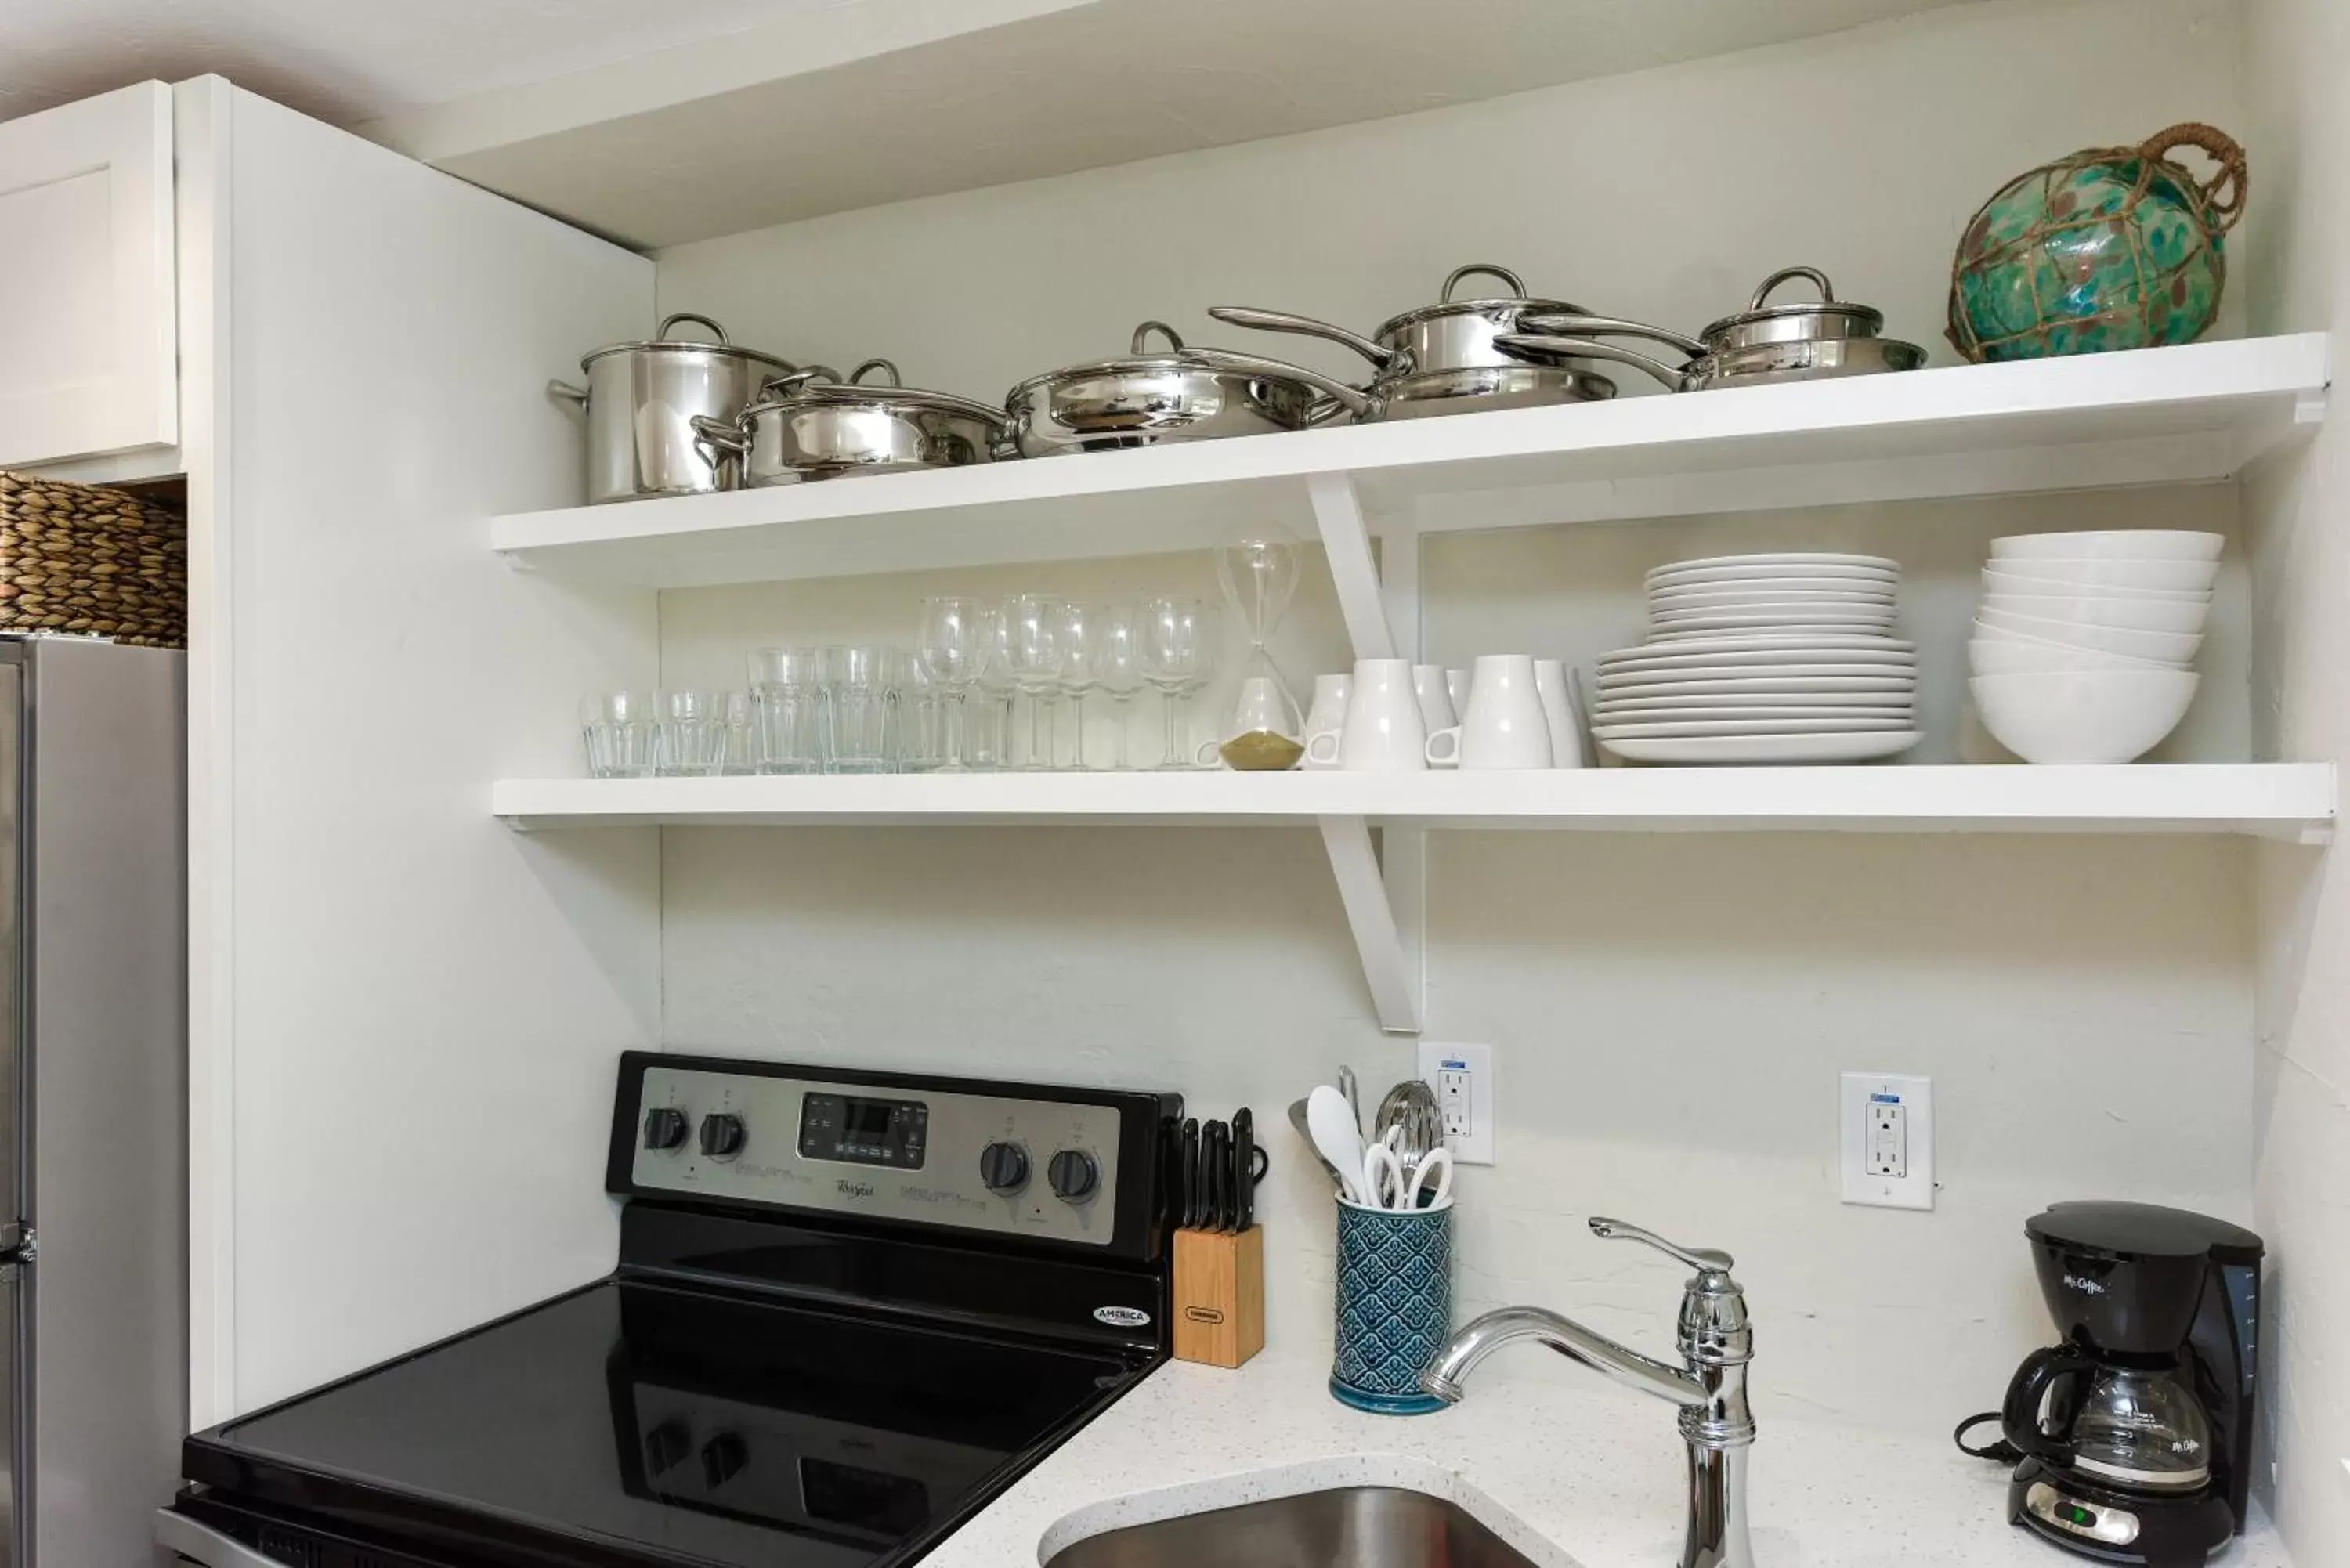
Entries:
<svg viewBox="0 0 2350 1568">
<path fill-rule="evenodd" d="M 0 125 L 0 468 L 179 440 L 172 89 Z"/>
</svg>

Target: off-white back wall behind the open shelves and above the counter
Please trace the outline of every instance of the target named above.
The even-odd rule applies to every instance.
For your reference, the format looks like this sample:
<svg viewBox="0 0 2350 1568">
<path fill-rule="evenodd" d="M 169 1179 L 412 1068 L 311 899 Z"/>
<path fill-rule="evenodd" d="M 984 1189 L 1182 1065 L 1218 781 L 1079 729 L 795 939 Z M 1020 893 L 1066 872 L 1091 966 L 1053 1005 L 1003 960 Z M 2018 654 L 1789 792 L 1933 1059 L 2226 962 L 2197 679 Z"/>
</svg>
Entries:
<svg viewBox="0 0 2350 1568">
<path fill-rule="evenodd" d="M 1119 350 L 1144 315 L 1238 341 L 1201 317 L 1220 301 L 1368 327 L 1469 259 L 1683 327 L 1812 261 L 1946 362 L 1948 254 L 1979 200 L 2077 146 L 2237 125 L 2237 47 L 2235 9 L 2209 0 L 1962 7 L 679 247 L 660 296 L 740 341 L 841 364 L 888 353 L 909 381 L 987 397 Z M 2223 331 L 2242 303 L 2240 287 Z M 1955 661 L 1983 538 L 2127 522 L 2232 529 L 2235 491 L 1448 536 L 1426 557 L 1426 646 L 1589 658 L 1633 630 L 1657 559 L 1882 548 L 1913 576 L 1927 755 L 1962 755 Z M 672 592 L 665 679 L 738 682 L 759 642 L 905 637 L 914 597 L 947 581 L 1213 592 L 1196 555 Z M 2176 755 L 2247 755 L 2242 576 L 2221 628 Z M 1292 677 L 1342 658 L 1323 578 L 1278 646 Z M 1676 1272 L 1579 1222 L 1619 1213 L 1739 1253 L 1765 1420 L 1835 1410 L 1939 1436 L 1995 1403 L 2047 1333 L 2021 1241 L 2040 1204 L 2251 1215 L 2240 844 L 1450 835 L 1429 882 L 1429 1034 L 1497 1041 L 1504 1077 L 1504 1164 L 1464 1180 L 1464 1312 L 1537 1300 L 1666 1342 Z M 679 1048 L 1168 1084 L 1206 1114 L 1253 1103 L 1269 1121 L 1340 1058 L 1368 1084 L 1412 1060 L 1368 1016 L 1307 832 L 672 830 L 663 912 Z M 1835 1201 L 1840 1067 L 1934 1074 L 1936 1213 Z M 1274 1150 L 1274 1335 L 1321 1345 L 1328 1206 L 1302 1152 L 1285 1135 Z M 1885 1366 L 1899 1375 L 1871 1375 Z"/>
</svg>

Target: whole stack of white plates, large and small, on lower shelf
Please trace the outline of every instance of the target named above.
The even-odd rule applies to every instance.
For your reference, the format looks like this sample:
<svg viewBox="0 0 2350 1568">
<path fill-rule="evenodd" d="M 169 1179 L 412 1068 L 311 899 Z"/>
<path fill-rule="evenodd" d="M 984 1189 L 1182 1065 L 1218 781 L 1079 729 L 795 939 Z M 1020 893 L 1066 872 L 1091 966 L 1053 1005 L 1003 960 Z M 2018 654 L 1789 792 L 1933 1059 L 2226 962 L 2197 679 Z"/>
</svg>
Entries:
<svg viewBox="0 0 2350 1568">
<path fill-rule="evenodd" d="M 1716 555 L 1647 574 L 1647 642 L 1598 661 L 1626 762 L 1866 762 L 1918 745 L 1918 646 L 1880 555 Z"/>
</svg>

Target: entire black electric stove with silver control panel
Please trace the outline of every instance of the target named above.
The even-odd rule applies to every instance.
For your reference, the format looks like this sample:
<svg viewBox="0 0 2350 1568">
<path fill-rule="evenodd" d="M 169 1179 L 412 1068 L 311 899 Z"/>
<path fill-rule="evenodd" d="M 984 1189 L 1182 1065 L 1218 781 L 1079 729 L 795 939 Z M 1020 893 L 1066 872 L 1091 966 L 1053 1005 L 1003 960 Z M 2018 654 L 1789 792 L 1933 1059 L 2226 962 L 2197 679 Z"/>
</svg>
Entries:
<svg viewBox="0 0 2350 1568">
<path fill-rule="evenodd" d="M 909 1563 L 1166 1359 L 1177 1114 L 630 1053 L 618 1269 L 190 1436 L 160 1535 L 214 1568 Z"/>
</svg>

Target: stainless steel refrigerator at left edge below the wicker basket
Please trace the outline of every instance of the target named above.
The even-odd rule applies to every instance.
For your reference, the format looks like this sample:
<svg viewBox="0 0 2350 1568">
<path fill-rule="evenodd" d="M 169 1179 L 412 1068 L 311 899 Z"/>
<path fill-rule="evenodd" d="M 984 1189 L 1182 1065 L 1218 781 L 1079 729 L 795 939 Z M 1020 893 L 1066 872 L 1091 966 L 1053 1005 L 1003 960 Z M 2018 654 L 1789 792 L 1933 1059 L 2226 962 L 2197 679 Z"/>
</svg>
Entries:
<svg viewBox="0 0 2350 1568">
<path fill-rule="evenodd" d="M 157 1561 L 186 1432 L 186 656 L 0 639 L 7 1568 Z"/>
</svg>

